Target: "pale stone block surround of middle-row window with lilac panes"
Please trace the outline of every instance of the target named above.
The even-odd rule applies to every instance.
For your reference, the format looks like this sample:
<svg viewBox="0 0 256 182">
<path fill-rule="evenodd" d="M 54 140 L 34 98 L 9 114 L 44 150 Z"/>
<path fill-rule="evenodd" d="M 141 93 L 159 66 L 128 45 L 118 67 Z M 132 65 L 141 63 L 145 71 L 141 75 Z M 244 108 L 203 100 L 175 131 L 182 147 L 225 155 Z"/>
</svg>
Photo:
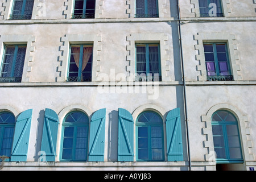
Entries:
<svg viewBox="0 0 256 182">
<path fill-rule="evenodd" d="M 196 69 L 200 72 L 200 76 L 197 77 L 198 81 L 207 80 L 204 42 L 225 42 L 228 45 L 230 69 L 233 73 L 233 78 L 234 80 L 242 80 L 236 35 L 229 32 L 200 32 L 194 36 L 194 40 L 197 41 L 195 50 L 198 51 L 198 54 L 196 55 L 196 60 L 199 62 Z"/>
</svg>

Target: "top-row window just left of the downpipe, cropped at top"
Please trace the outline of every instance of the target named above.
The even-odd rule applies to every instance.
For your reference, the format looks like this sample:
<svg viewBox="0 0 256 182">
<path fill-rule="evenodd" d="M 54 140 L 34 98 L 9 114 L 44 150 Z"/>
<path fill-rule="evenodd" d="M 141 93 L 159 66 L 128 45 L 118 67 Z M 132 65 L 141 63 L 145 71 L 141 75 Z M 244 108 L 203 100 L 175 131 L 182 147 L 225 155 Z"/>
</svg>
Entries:
<svg viewBox="0 0 256 182">
<path fill-rule="evenodd" d="M 135 18 L 158 18 L 158 0 L 136 0 Z"/>
</svg>

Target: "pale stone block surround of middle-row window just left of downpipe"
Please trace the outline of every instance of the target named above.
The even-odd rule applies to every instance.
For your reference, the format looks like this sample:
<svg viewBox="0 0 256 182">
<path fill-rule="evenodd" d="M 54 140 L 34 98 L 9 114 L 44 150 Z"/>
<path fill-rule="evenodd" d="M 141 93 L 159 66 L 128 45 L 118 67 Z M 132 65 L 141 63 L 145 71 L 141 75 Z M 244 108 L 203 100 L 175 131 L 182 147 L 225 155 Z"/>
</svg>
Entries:
<svg viewBox="0 0 256 182">
<path fill-rule="evenodd" d="M 127 36 L 127 42 L 129 44 L 126 46 L 126 50 L 128 52 L 126 56 L 126 61 L 129 63 L 126 66 L 126 71 L 128 75 L 133 77 L 135 75 L 135 43 L 143 43 L 143 42 L 152 42 L 152 43 L 160 43 L 160 61 L 161 61 L 161 72 L 162 72 L 162 81 L 170 81 L 170 65 L 169 59 L 170 56 L 168 54 L 169 50 L 169 42 L 168 36 L 164 33 L 158 34 L 141 34 L 141 33 L 133 33 Z M 130 79 L 129 79 L 130 80 Z M 131 80 L 134 80 L 131 79 Z"/>
</svg>

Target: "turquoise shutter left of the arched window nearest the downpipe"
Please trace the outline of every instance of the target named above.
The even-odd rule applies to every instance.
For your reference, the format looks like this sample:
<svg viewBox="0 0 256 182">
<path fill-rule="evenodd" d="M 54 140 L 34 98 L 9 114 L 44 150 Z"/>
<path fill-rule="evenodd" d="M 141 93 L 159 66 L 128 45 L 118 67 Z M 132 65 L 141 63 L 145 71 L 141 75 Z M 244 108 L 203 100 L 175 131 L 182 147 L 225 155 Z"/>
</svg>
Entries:
<svg viewBox="0 0 256 182">
<path fill-rule="evenodd" d="M 118 109 L 118 161 L 133 161 L 133 116 L 129 111 Z"/>
</svg>

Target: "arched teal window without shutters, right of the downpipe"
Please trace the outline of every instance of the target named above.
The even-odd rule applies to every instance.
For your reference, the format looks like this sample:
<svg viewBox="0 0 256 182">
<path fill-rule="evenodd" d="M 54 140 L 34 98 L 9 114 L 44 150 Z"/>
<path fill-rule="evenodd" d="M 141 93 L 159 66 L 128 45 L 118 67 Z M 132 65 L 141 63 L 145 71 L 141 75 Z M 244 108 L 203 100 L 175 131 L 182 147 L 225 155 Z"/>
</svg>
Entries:
<svg viewBox="0 0 256 182">
<path fill-rule="evenodd" d="M 218 164 L 243 162 L 238 123 L 232 113 L 226 110 L 213 113 L 212 133 Z"/>
</svg>

